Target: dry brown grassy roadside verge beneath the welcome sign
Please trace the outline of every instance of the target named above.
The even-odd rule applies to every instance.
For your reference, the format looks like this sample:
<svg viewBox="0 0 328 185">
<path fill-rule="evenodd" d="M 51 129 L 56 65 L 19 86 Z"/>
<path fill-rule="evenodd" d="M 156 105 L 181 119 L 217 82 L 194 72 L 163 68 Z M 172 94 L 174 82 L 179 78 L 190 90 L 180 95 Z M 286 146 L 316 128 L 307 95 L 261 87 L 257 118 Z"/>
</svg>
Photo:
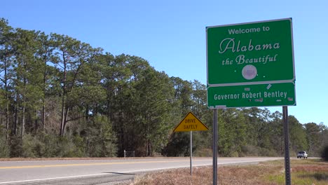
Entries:
<svg viewBox="0 0 328 185">
<path fill-rule="evenodd" d="M 328 184 L 328 163 L 315 159 L 292 160 L 292 184 Z M 224 166 L 218 169 L 219 184 L 285 184 L 284 160 L 259 165 Z M 205 185 L 212 184 L 212 167 L 167 170 L 138 176 L 130 185 Z"/>
</svg>

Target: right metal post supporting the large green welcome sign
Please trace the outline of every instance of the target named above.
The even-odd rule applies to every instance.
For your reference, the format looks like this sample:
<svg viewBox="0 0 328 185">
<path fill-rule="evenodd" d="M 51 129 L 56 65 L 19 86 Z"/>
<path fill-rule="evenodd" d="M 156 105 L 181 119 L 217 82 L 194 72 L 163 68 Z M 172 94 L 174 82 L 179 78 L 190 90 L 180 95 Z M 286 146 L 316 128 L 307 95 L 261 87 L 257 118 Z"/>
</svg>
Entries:
<svg viewBox="0 0 328 185">
<path fill-rule="evenodd" d="M 284 135 L 285 135 L 285 181 L 286 185 L 291 184 L 290 178 L 290 158 L 289 158 L 289 125 L 288 125 L 288 108 L 282 107 L 282 118 L 284 120 Z"/>
</svg>

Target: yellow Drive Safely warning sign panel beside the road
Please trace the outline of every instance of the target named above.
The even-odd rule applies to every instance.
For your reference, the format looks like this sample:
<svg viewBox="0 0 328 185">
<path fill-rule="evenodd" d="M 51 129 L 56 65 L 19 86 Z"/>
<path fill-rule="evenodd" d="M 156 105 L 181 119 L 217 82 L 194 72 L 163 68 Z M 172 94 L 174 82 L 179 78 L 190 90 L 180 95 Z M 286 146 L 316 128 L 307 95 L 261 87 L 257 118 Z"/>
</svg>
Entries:
<svg viewBox="0 0 328 185">
<path fill-rule="evenodd" d="M 208 130 L 207 126 L 204 125 L 192 112 L 184 117 L 184 119 L 177 125 L 174 132 L 186 132 L 186 131 L 199 131 Z"/>
</svg>

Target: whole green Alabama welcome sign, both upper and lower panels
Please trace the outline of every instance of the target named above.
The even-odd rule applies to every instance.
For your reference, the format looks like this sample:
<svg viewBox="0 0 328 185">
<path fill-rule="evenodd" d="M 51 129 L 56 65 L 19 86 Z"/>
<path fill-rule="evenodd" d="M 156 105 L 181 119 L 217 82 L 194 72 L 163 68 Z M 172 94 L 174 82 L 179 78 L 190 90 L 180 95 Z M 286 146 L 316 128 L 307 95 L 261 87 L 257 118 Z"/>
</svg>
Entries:
<svg viewBox="0 0 328 185">
<path fill-rule="evenodd" d="M 207 106 L 296 105 L 292 19 L 206 28 Z"/>
</svg>

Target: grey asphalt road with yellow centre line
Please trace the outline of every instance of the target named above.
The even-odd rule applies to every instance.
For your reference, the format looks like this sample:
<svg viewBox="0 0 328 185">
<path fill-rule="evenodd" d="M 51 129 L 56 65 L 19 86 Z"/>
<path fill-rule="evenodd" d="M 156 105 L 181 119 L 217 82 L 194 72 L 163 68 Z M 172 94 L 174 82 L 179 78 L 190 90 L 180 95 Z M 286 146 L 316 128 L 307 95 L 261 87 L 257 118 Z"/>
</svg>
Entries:
<svg viewBox="0 0 328 185">
<path fill-rule="evenodd" d="M 218 158 L 220 165 L 259 163 L 283 158 Z M 212 165 L 212 158 L 193 158 L 193 167 Z M 190 167 L 189 158 L 117 158 L 108 160 L 0 161 L 3 184 L 117 184 L 135 174 Z"/>
</svg>

